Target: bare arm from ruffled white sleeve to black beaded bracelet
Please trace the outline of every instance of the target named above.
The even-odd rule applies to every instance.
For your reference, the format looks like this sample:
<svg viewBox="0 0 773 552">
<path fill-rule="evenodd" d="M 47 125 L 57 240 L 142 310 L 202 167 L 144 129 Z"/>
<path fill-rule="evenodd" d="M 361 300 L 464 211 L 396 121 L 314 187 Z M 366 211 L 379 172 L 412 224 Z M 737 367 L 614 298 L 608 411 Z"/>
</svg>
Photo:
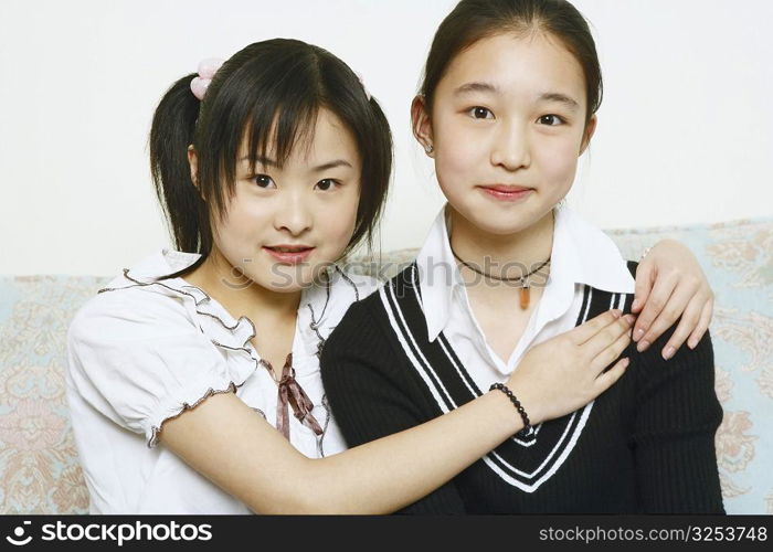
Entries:
<svg viewBox="0 0 773 552">
<path fill-rule="evenodd" d="M 435 490 L 522 428 L 504 393 L 335 456 L 303 456 L 233 394 L 163 425 L 161 443 L 258 513 L 388 513 Z"/>
</svg>

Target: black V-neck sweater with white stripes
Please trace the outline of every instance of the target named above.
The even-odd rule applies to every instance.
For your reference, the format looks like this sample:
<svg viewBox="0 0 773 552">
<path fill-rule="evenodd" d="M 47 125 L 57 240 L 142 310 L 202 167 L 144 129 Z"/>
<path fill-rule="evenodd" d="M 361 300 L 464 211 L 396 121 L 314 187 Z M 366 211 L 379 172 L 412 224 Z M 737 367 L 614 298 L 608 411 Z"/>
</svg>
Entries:
<svg viewBox="0 0 773 552">
<path fill-rule="evenodd" d="M 417 273 L 411 265 L 354 304 L 322 351 L 327 396 L 350 446 L 488 392 L 443 333 L 430 341 Z M 585 286 L 576 325 L 611 308 L 629 312 L 632 302 Z M 506 440 L 404 512 L 722 512 L 711 342 L 707 335 L 666 362 L 673 331 L 644 353 L 632 343 L 627 373 L 594 402 Z"/>
</svg>

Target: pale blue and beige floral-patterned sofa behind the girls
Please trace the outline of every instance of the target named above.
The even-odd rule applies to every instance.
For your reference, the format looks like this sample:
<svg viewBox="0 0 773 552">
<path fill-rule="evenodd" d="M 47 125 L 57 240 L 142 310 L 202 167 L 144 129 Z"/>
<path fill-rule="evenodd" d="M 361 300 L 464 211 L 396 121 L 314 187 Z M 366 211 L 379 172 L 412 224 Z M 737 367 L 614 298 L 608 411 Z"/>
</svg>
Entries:
<svg viewBox="0 0 773 552">
<path fill-rule="evenodd" d="M 773 513 L 773 219 L 610 234 L 627 258 L 661 237 L 680 240 L 700 258 L 717 294 L 711 332 L 724 418 L 716 442 L 726 509 Z M 108 279 L 0 276 L 0 513 L 87 511 L 64 397 L 65 336 Z"/>
</svg>

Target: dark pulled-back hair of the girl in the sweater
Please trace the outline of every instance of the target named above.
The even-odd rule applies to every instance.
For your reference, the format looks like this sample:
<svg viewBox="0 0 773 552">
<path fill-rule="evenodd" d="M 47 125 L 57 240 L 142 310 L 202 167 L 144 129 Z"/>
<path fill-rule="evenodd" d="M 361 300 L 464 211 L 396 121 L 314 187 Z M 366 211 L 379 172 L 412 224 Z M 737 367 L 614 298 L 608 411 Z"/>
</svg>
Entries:
<svg viewBox="0 0 773 552">
<path fill-rule="evenodd" d="M 420 93 L 427 112 L 454 57 L 481 39 L 508 32 L 549 33 L 574 55 L 585 75 L 587 123 L 601 106 L 601 65 L 587 21 L 566 0 L 462 0 L 456 4 L 437 28 L 426 60 Z"/>
</svg>

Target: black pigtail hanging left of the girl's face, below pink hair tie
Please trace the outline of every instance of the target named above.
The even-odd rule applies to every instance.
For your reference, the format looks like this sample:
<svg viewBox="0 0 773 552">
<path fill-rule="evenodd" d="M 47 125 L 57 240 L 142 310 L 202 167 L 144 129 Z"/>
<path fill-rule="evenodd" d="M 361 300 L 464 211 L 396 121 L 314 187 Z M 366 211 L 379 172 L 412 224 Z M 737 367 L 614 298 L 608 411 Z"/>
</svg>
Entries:
<svg viewBox="0 0 773 552">
<path fill-rule="evenodd" d="M 207 204 L 191 180 L 188 146 L 193 144 L 200 102 L 190 83 L 195 74 L 176 82 L 161 98 L 150 128 L 150 173 L 166 214 L 174 246 L 200 253 L 199 266 L 212 248 Z"/>
</svg>

